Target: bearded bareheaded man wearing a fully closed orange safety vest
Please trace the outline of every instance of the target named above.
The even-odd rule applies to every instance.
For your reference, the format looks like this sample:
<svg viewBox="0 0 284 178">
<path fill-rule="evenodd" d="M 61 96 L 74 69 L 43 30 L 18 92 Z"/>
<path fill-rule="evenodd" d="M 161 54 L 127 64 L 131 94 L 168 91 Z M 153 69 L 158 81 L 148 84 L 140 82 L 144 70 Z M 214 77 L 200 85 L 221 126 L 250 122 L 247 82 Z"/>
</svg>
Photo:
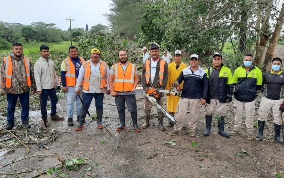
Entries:
<svg viewBox="0 0 284 178">
<path fill-rule="evenodd" d="M 133 92 L 138 84 L 138 71 L 136 65 L 128 62 L 127 52 L 119 51 L 119 63 L 114 64 L 110 69 L 109 88 L 111 96 L 115 97 L 115 103 L 120 118 L 120 126 L 116 128 L 117 131 L 125 129 L 125 103 L 127 110 L 130 112 L 133 130 L 140 132 L 137 125 L 137 106 L 135 95 L 117 95 L 121 92 Z"/>
</svg>

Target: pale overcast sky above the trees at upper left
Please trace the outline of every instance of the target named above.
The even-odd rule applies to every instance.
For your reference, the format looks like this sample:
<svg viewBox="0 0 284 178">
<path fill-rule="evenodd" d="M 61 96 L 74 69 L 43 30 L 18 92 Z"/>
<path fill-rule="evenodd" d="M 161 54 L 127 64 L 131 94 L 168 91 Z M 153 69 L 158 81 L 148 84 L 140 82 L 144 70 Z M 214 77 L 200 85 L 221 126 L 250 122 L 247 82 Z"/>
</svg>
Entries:
<svg viewBox="0 0 284 178">
<path fill-rule="evenodd" d="M 62 30 L 69 28 L 89 29 L 96 24 L 108 25 L 102 15 L 109 13 L 110 0 L 1 0 L 0 21 L 30 25 L 32 22 L 54 23 Z"/>
</svg>

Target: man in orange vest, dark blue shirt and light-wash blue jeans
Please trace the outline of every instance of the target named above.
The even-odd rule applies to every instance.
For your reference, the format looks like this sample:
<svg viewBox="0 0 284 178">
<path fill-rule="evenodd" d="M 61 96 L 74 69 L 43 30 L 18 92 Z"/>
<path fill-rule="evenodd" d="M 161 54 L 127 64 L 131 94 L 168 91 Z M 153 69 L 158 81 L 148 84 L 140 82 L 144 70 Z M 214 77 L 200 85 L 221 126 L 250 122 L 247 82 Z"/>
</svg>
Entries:
<svg viewBox="0 0 284 178">
<path fill-rule="evenodd" d="M 62 82 L 63 92 L 67 92 L 67 115 L 68 126 L 73 126 L 73 110 L 76 102 L 77 121 L 79 121 L 81 101 L 79 96 L 75 94 L 76 80 L 79 75 L 81 65 L 85 62 L 83 57 L 78 56 L 78 51 L 75 46 L 70 46 L 68 49 L 69 57 L 61 63 L 60 77 Z M 82 97 L 82 86 L 80 87 L 80 95 Z"/>
</svg>

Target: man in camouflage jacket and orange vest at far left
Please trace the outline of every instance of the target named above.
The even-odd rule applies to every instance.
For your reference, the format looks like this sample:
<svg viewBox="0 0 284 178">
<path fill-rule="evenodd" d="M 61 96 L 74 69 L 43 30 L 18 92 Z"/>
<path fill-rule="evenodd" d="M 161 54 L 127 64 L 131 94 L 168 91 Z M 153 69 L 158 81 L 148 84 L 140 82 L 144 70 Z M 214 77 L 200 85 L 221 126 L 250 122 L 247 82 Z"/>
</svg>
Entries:
<svg viewBox="0 0 284 178">
<path fill-rule="evenodd" d="M 23 54 L 23 45 L 13 43 L 12 52 L 4 57 L 0 67 L 2 96 L 7 96 L 7 126 L 11 130 L 14 127 L 14 113 L 18 98 L 20 99 L 22 111 L 21 120 L 23 126 L 31 128 L 29 124 L 29 91 L 36 92 L 33 66 L 28 57 Z"/>
</svg>

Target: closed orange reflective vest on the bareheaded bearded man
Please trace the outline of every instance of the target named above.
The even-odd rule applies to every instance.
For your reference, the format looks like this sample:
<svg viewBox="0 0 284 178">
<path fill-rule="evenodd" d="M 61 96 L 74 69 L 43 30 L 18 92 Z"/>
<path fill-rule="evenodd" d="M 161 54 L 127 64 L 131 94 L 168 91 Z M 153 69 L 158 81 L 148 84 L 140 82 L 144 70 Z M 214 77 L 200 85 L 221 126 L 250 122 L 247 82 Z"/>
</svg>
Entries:
<svg viewBox="0 0 284 178">
<path fill-rule="evenodd" d="M 120 63 L 112 66 L 115 71 L 115 79 L 113 80 L 113 90 L 123 92 L 131 91 L 134 86 L 134 75 L 136 66 L 132 63 L 128 63 L 125 71 Z"/>
</svg>

